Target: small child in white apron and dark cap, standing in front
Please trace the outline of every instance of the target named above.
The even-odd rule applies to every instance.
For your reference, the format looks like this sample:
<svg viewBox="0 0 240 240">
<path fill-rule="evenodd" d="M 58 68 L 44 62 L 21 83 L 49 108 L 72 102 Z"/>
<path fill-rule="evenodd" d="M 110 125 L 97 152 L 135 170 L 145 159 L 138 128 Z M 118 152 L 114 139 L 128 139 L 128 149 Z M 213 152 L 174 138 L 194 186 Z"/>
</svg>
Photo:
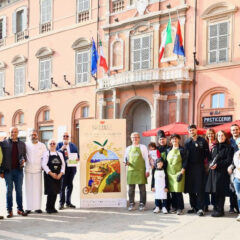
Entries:
<svg viewBox="0 0 240 240">
<path fill-rule="evenodd" d="M 160 212 L 160 205 L 162 202 L 162 212 L 164 214 L 168 213 L 167 211 L 167 192 L 168 192 L 168 178 L 167 173 L 164 170 L 164 160 L 158 158 L 156 160 L 156 170 L 154 172 L 154 177 L 152 181 L 152 191 L 155 192 L 155 209 L 154 213 Z"/>
</svg>

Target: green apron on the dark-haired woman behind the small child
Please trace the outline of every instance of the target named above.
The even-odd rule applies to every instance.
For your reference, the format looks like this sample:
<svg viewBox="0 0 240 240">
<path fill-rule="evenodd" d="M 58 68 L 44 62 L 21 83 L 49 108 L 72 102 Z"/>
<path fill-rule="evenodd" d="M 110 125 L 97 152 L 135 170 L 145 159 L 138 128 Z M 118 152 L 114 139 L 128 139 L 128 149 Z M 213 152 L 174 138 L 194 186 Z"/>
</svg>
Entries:
<svg viewBox="0 0 240 240">
<path fill-rule="evenodd" d="M 180 182 L 177 182 L 177 176 L 182 169 L 182 158 L 179 149 L 172 149 L 167 155 L 167 174 L 169 192 L 183 192 L 185 175 Z"/>
</svg>

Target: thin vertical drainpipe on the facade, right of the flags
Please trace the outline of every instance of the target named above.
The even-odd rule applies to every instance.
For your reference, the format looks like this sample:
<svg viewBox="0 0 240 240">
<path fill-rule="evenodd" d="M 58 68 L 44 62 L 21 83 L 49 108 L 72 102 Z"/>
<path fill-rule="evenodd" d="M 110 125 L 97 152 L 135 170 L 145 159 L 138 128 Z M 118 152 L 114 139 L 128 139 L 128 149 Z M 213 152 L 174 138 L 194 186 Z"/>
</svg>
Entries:
<svg viewBox="0 0 240 240">
<path fill-rule="evenodd" d="M 195 95 L 196 95 L 196 65 L 198 65 L 198 60 L 196 58 L 196 48 L 197 48 L 197 0 L 195 0 L 195 29 L 194 29 L 194 52 L 193 52 L 193 84 L 192 84 L 192 123 L 195 121 Z"/>
</svg>

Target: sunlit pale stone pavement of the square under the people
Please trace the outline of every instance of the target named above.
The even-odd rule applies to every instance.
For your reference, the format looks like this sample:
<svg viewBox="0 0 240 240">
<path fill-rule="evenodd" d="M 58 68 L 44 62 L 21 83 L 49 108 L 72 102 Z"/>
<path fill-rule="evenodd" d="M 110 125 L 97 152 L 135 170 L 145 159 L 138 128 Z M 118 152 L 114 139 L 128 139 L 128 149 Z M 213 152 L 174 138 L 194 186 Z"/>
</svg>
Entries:
<svg viewBox="0 0 240 240">
<path fill-rule="evenodd" d="M 240 222 L 236 215 L 226 214 L 215 219 L 210 213 L 204 217 L 184 214 L 153 214 L 154 196 L 148 192 L 147 210 L 128 212 L 126 209 L 80 209 L 79 176 L 75 178 L 73 203 L 76 209 L 64 209 L 58 214 L 30 214 L 0 220 L 0 239 L 81 239 L 81 240 L 181 240 L 181 239 L 239 239 Z M 150 186 L 148 186 L 150 189 Z M 138 197 L 138 192 L 136 192 Z M 14 198 L 15 199 L 15 198 Z M 43 207 L 46 197 L 43 196 Z M 14 200 L 15 201 L 15 200 Z M 185 207 L 189 208 L 185 195 Z M 58 203 L 56 204 L 58 206 Z M 228 202 L 226 203 L 228 210 Z M 14 207 L 16 211 L 16 207 Z M 0 180 L 0 213 L 6 216 L 5 183 Z M 16 214 L 16 212 L 15 212 Z"/>
</svg>

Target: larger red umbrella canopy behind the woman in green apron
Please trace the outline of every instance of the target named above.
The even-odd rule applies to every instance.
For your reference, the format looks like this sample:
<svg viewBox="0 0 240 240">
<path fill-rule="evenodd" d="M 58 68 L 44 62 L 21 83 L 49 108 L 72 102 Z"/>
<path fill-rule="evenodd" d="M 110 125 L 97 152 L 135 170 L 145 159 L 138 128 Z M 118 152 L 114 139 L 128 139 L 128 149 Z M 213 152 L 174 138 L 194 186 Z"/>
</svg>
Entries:
<svg viewBox="0 0 240 240">
<path fill-rule="evenodd" d="M 165 132 L 166 136 L 170 136 L 174 133 L 179 134 L 179 135 L 188 135 L 188 124 L 186 123 L 180 123 L 180 122 L 176 122 L 176 123 L 171 123 L 168 124 L 166 126 L 162 126 L 160 128 L 155 128 L 149 131 L 145 131 L 142 133 L 142 135 L 144 137 L 150 137 L 150 136 L 157 136 L 157 132 L 159 130 L 162 130 Z M 205 134 L 206 129 L 204 128 L 198 128 L 198 134 L 202 135 Z"/>
</svg>

